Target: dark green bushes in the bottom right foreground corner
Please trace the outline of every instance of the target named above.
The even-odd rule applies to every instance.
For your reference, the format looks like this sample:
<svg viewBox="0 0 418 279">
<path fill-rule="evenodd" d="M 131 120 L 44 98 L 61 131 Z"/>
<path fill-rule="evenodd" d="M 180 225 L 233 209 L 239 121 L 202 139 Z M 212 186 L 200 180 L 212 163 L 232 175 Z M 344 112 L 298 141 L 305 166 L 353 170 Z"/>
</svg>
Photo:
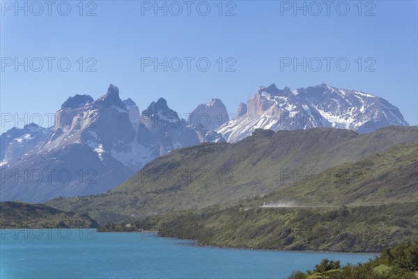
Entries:
<svg viewBox="0 0 418 279">
<path fill-rule="evenodd" d="M 347 264 L 323 259 L 314 271 L 293 271 L 288 279 L 417 279 L 418 241 L 385 249 L 364 264 Z"/>
</svg>

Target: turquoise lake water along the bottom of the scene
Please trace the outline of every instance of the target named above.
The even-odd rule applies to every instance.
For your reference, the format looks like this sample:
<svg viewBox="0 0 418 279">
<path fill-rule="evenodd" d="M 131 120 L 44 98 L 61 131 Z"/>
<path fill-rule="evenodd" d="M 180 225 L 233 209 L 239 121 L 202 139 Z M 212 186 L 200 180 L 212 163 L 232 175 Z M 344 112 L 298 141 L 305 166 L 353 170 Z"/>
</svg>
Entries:
<svg viewBox="0 0 418 279">
<path fill-rule="evenodd" d="M 191 246 L 154 234 L 95 229 L 1 229 L 0 278 L 286 278 L 321 259 L 376 254 Z"/>
</svg>

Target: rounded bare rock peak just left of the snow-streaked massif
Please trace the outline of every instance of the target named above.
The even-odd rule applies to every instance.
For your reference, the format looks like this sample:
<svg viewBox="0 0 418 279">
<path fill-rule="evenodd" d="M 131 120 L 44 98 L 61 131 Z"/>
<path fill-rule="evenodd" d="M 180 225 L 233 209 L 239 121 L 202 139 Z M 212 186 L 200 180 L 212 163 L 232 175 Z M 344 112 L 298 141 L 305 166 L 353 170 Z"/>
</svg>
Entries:
<svg viewBox="0 0 418 279">
<path fill-rule="evenodd" d="M 212 99 L 209 103 L 201 104 L 189 114 L 187 123 L 206 130 L 214 130 L 229 121 L 229 115 L 222 100 Z"/>
</svg>

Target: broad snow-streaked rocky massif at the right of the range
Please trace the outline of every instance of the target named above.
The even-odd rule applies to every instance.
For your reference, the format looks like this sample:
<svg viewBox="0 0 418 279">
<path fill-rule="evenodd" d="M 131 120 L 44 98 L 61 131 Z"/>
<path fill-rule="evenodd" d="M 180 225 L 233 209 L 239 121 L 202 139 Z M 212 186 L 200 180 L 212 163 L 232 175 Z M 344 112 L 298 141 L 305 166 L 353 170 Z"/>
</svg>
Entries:
<svg viewBox="0 0 418 279">
<path fill-rule="evenodd" d="M 277 131 L 334 127 L 369 133 L 383 126 L 408 126 L 398 108 L 383 98 L 327 84 L 293 92 L 272 84 L 261 86 L 246 107 L 238 107 L 236 119 L 216 131 L 227 142 L 238 142 L 256 128 Z"/>
</svg>

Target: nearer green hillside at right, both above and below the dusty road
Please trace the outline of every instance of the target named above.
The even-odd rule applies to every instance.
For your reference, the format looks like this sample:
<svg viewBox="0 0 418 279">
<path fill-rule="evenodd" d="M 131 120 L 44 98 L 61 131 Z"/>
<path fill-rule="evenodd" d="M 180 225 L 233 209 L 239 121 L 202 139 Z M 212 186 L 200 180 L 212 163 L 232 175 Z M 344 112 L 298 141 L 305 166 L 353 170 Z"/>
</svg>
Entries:
<svg viewBox="0 0 418 279">
<path fill-rule="evenodd" d="M 379 251 L 418 236 L 417 158 L 418 144 L 403 144 L 335 167 L 322 179 L 284 186 L 227 208 L 211 206 L 140 220 L 137 228 L 157 226 L 162 235 L 211 246 Z M 259 207 L 280 199 L 312 208 Z M 325 206 L 315 207 L 325 200 Z"/>
</svg>

